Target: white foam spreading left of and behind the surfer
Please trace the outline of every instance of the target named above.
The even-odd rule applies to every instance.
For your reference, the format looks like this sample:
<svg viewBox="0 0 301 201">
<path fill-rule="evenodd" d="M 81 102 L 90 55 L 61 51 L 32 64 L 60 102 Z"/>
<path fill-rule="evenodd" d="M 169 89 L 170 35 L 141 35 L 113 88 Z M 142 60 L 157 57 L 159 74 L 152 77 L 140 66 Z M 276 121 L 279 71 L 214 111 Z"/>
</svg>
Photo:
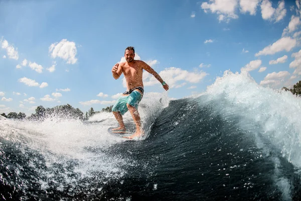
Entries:
<svg viewBox="0 0 301 201">
<path fill-rule="evenodd" d="M 138 111 L 147 132 L 167 105 L 167 93 L 144 94 Z M 126 113 L 124 119 L 125 122 L 133 124 L 129 112 Z M 112 145 L 126 140 L 107 132 L 109 127 L 117 125 L 112 113 L 96 114 L 87 122 L 57 117 L 50 117 L 43 122 L 7 119 L 0 121 L 0 137 L 20 144 L 18 149 L 23 154 L 27 154 L 27 148 L 42 154 L 47 170 L 37 166 L 40 163 L 39 158 L 33 157 L 29 161 L 32 168 L 41 176 L 48 178 L 47 181 L 40 179 L 38 182 L 42 188 L 47 188 L 49 187 L 47 183 L 52 181 L 59 185 L 58 190 L 63 190 L 66 183 L 77 186 L 79 179 L 95 177 L 95 172 L 101 174 L 101 178 L 98 178 L 99 182 L 120 178 L 126 173 L 123 167 L 136 165 L 136 161 L 132 159 L 107 152 Z M 76 165 L 68 170 L 70 161 L 75 161 L 74 164 Z M 60 164 L 65 170 L 63 172 L 55 171 L 57 169 L 56 164 Z M 22 165 L 14 168 L 21 169 Z M 56 173 L 54 174 L 54 172 Z M 79 175 L 78 179 L 69 176 L 74 175 L 74 173 Z M 64 178 L 65 183 L 56 181 L 58 176 Z M 23 182 L 26 183 L 27 181 Z"/>
</svg>

